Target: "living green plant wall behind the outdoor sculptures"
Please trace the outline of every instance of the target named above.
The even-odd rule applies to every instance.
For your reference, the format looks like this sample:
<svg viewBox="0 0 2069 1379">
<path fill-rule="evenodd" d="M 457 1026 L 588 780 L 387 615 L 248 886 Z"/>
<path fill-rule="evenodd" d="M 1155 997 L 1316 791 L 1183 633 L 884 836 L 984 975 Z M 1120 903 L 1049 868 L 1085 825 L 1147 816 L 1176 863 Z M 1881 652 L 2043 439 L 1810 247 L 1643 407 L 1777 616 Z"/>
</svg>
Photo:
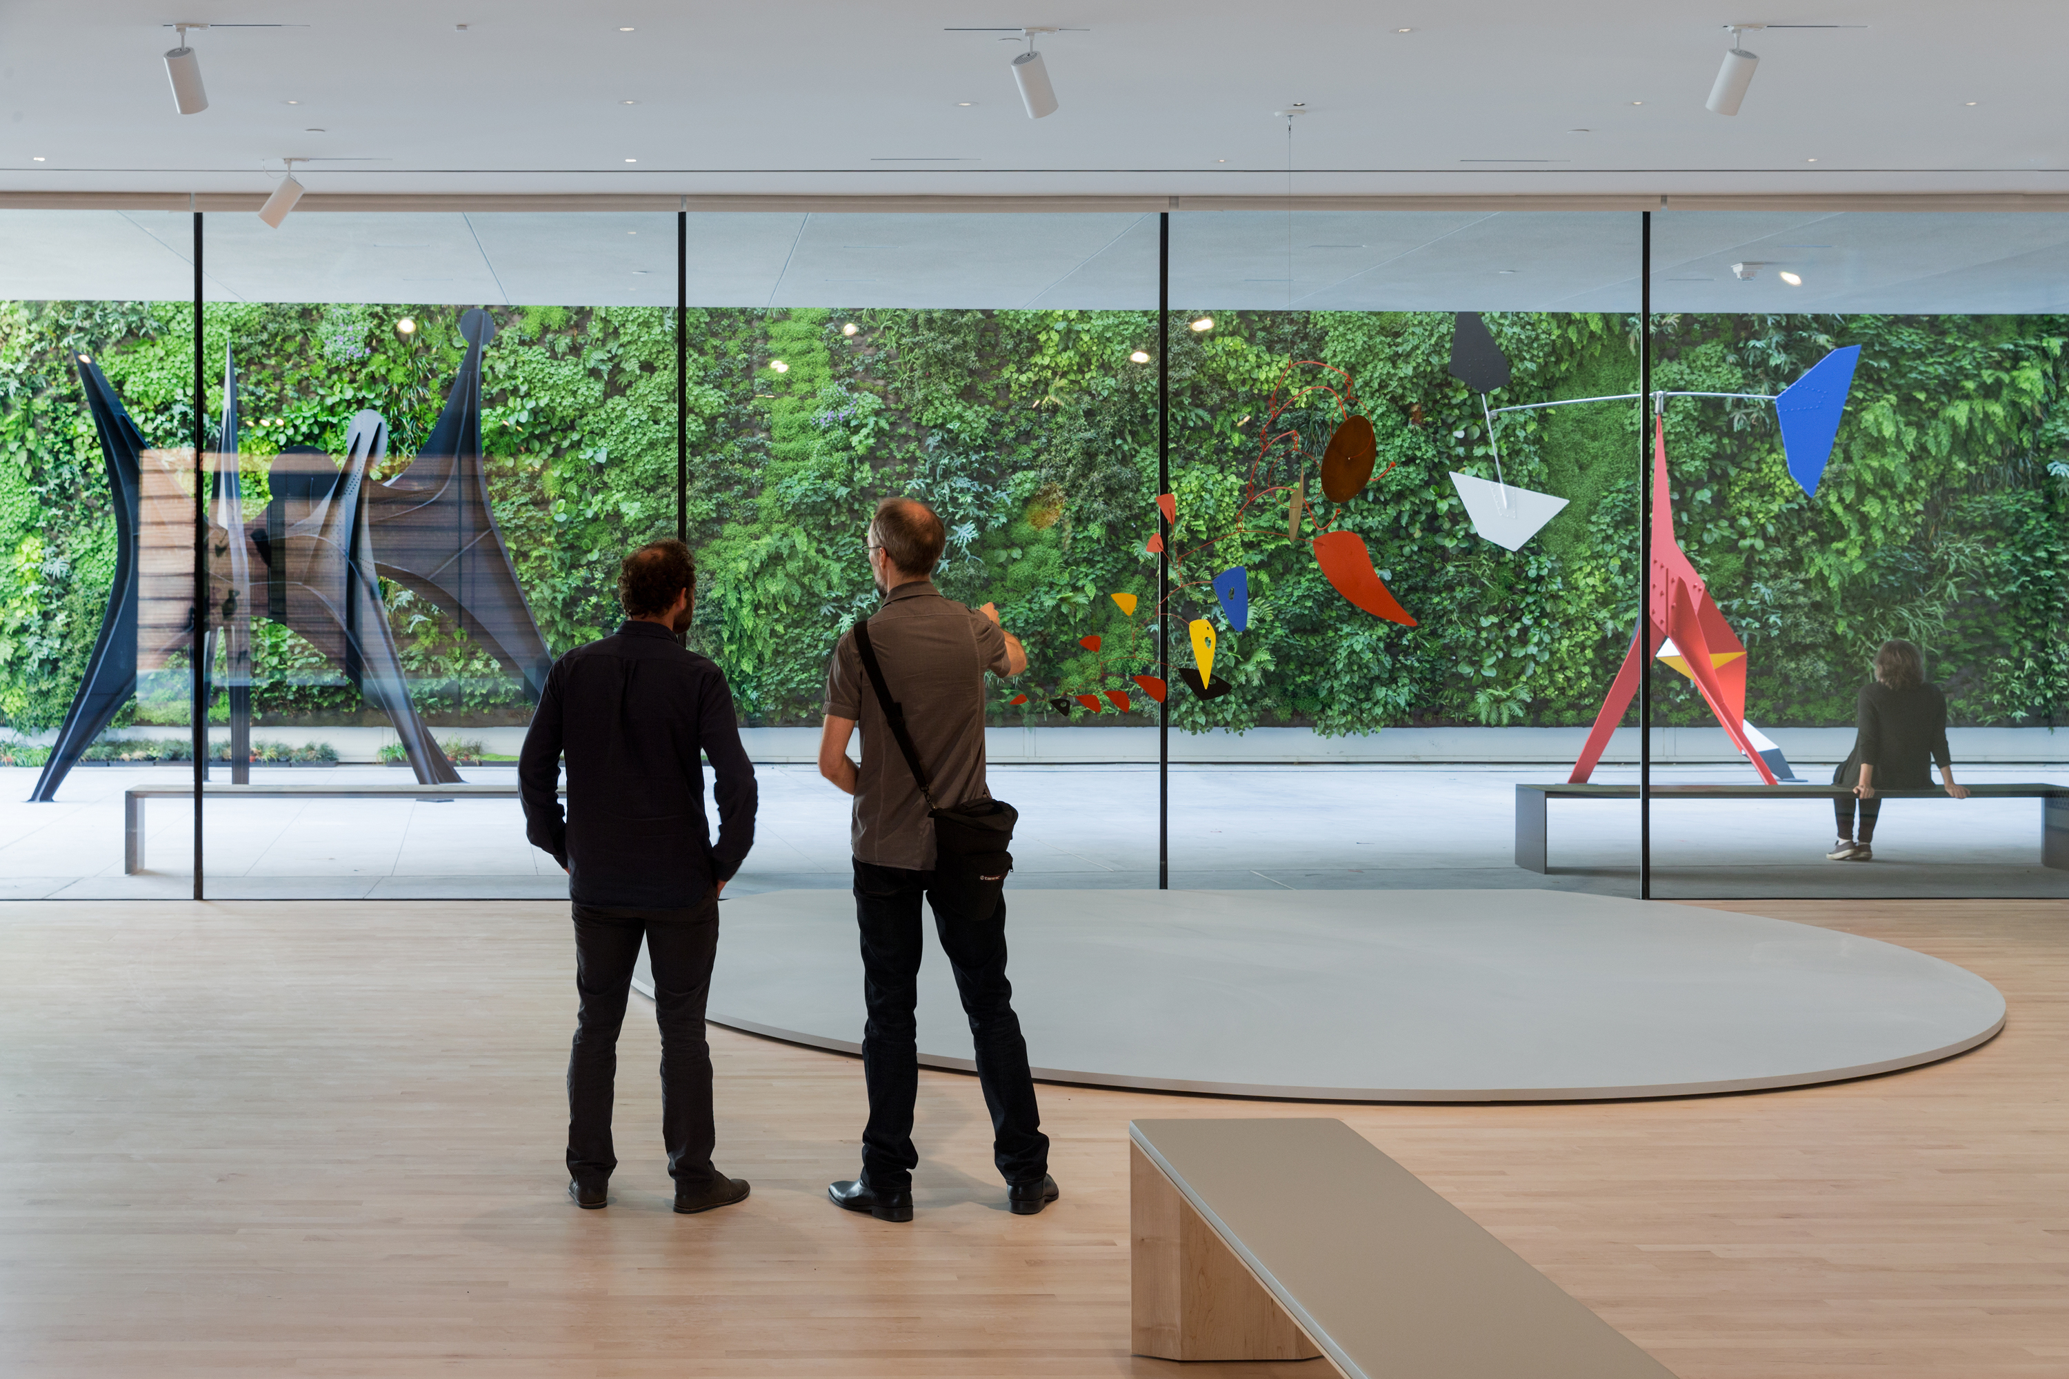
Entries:
<svg viewBox="0 0 2069 1379">
<path fill-rule="evenodd" d="M 190 434 L 186 304 L 0 306 L 0 713 L 58 722 L 99 622 L 112 519 L 97 442 L 66 362 L 95 351 L 153 440 Z M 412 316 L 414 335 L 395 320 Z M 484 362 L 490 492 L 552 649 L 604 635 L 619 556 L 674 527 L 672 312 L 497 308 Z M 1521 552 L 1477 535 L 1450 469 L 1494 478 L 1477 401 L 1446 374 L 1450 316 L 1215 312 L 1175 316 L 1171 467 L 1181 531 L 1223 535 L 1181 571 L 1177 622 L 1221 626 L 1200 703 L 1173 686 L 1181 728 L 1312 724 L 1585 724 L 1637 612 L 1639 409 L 1595 405 L 1500 424 L 1508 482 L 1570 498 Z M 265 459 L 341 447 L 360 407 L 393 428 L 391 469 L 430 430 L 459 362 L 457 308 L 211 306 L 209 354 L 234 341 L 244 378 L 246 513 Z M 1496 401 L 1637 389 L 1635 320 L 1492 314 L 1515 366 Z M 852 327 L 852 329 L 850 329 Z M 1668 409 L 1680 540 L 1750 651 L 1748 717 L 1763 728 L 1852 722 L 1872 647 L 1926 647 L 1972 724 L 2048 724 L 2069 688 L 2061 608 L 2069 445 L 2057 316 L 1659 316 L 1663 389 L 1775 393 L 1846 343 L 1860 372 L 1817 498 L 1788 478 L 1773 411 Z M 1099 635 L 1138 643 L 1155 606 L 1157 347 L 1150 312 L 693 310 L 689 527 L 699 558 L 695 645 L 718 660 L 743 722 L 811 724 L 826 657 L 875 604 L 863 527 L 908 492 L 946 519 L 939 583 L 997 602 L 1030 653 L 1030 701 L 997 722 L 1059 722 L 1057 693 L 1092 688 Z M 1235 521 L 1256 424 L 1291 364 L 1355 380 L 1380 469 L 1341 525 L 1419 626 L 1345 604 L 1285 509 Z M 215 387 L 211 382 L 211 397 Z M 213 405 L 213 403 L 211 403 Z M 1335 413 L 1291 418 L 1318 442 Z M 1252 622 L 1223 624 L 1204 579 L 1250 569 Z M 1126 618 L 1107 597 L 1136 593 Z M 523 722 L 519 686 L 434 608 L 389 589 L 420 705 L 441 724 Z M 364 705 L 298 637 L 261 624 L 269 722 L 360 722 Z M 1173 637 L 1173 664 L 1186 664 Z M 1132 664 L 1126 670 L 1150 670 Z M 1123 672 L 1126 674 L 1126 672 Z M 1111 680 L 1109 680 L 1111 682 Z M 1707 722 L 1661 672 L 1661 722 Z M 1150 709 L 1099 722 L 1144 722 Z M 137 713 L 180 722 L 178 695 Z M 219 709 L 217 709 L 219 713 Z M 1082 711 L 1072 722 L 1088 722 Z M 368 719 L 379 722 L 379 719 Z"/>
</svg>

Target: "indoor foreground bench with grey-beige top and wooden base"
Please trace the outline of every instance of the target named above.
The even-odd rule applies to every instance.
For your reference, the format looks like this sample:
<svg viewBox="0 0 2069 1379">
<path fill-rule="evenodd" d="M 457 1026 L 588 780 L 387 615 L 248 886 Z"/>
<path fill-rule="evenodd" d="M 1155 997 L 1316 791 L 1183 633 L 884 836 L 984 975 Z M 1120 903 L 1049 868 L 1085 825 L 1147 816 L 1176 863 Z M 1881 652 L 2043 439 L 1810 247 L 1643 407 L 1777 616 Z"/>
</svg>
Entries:
<svg viewBox="0 0 2069 1379">
<path fill-rule="evenodd" d="M 1136 1354 L 1674 1379 L 1343 1121 L 1128 1127 Z"/>
</svg>

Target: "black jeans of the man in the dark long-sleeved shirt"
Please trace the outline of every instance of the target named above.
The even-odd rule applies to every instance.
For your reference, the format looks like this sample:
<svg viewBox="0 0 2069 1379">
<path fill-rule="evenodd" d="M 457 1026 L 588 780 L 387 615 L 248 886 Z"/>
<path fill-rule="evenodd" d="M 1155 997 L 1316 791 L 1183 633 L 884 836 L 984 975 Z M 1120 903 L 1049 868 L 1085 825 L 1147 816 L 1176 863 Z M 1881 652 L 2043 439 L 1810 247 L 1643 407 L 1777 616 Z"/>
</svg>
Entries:
<svg viewBox="0 0 2069 1379">
<path fill-rule="evenodd" d="M 610 1145 L 619 1025 L 646 939 L 660 1021 L 660 1137 L 677 1189 L 712 1183 L 712 1046 L 703 1003 L 718 953 L 718 895 L 695 910 L 606 910 L 575 906 L 575 1046 L 567 1056 L 567 1172 L 602 1181 L 619 1166 Z"/>
</svg>

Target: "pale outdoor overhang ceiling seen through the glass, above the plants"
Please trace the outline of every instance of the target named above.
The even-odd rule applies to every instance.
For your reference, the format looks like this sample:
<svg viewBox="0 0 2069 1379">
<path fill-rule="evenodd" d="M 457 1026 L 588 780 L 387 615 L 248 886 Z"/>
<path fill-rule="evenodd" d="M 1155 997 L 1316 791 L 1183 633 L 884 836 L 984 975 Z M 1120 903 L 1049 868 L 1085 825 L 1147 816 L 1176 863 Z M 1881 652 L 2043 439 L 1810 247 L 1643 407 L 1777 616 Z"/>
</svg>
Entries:
<svg viewBox="0 0 2069 1379">
<path fill-rule="evenodd" d="M 672 213 L 205 217 L 211 300 L 674 304 Z M 1738 279 L 1734 263 L 1759 263 Z M 1788 285 L 1792 271 L 1802 285 Z M 1157 217 L 693 213 L 693 306 L 1155 308 Z M 192 294 L 184 211 L 0 211 L 0 298 Z M 1177 310 L 1637 310 L 1630 211 L 1179 211 Z M 1653 308 L 2065 312 L 2069 215 L 1653 215 Z"/>
</svg>

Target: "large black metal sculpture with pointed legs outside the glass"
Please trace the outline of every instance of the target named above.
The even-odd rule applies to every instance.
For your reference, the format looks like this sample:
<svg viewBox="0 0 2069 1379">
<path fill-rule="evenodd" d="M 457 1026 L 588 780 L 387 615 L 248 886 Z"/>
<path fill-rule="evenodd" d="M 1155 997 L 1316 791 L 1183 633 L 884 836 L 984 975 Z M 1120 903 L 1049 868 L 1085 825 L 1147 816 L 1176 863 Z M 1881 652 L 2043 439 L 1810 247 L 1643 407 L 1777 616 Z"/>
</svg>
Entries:
<svg viewBox="0 0 2069 1379">
<path fill-rule="evenodd" d="M 526 606 L 503 531 L 488 504 L 482 467 L 482 349 L 494 335 L 484 310 L 459 320 L 468 354 L 439 424 L 418 457 L 393 480 L 387 422 L 360 411 L 346 432 L 343 465 L 310 447 L 281 451 L 269 467 L 265 517 L 242 521 L 238 486 L 236 370 L 226 360 L 221 455 L 211 476 L 209 633 L 228 649 L 232 779 L 250 773 L 250 620 L 286 622 L 387 713 L 420 784 L 457 782 L 430 728 L 410 701 L 389 631 L 381 579 L 401 583 L 453 614 L 538 699 L 552 655 Z M 182 476 L 192 459 L 153 451 L 120 397 L 85 356 L 81 387 L 101 438 L 116 496 L 116 579 L 87 676 L 58 732 L 31 800 L 52 800 L 79 755 L 134 695 L 137 672 L 163 668 L 192 647 L 192 498 Z M 265 571 L 265 604 L 254 575 Z"/>
</svg>

